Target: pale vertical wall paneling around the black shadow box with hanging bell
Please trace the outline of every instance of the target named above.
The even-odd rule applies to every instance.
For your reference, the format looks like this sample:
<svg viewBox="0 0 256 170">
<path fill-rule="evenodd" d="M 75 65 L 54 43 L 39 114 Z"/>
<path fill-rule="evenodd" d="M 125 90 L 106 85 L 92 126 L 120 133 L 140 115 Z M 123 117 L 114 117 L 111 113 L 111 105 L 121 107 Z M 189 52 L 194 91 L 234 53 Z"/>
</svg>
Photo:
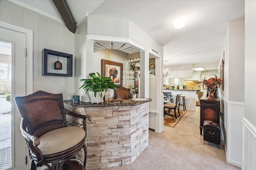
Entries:
<svg viewBox="0 0 256 170">
<path fill-rule="evenodd" d="M 33 91 L 74 95 L 74 77 L 42 76 L 42 50 L 51 49 L 74 55 L 74 34 L 62 23 L 0 0 L 0 20 L 33 31 Z"/>
</svg>

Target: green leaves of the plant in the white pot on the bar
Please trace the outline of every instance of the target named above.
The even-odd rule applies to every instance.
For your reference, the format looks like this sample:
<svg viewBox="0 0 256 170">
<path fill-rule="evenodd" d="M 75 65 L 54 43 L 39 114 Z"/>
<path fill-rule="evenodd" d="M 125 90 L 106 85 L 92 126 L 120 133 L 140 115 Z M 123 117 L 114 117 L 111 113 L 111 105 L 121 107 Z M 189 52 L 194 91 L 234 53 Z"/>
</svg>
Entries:
<svg viewBox="0 0 256 170">
<path fill-rule="evenodd" d="M 118 88 L 118 86 L 112 82 L 110 77 L 102 77 L 98 72 L 97 74 L 98 76 L 96 76 L 95 73 L 90 73 L 91 79 L 80 80 L 80 82 L 83 82 L 80 88 L 82 88 L 85 93 L 88 91 L 94 92 L 94 96 L 96 97 L 97 92 L 106 92 L 108 88 L 116 91 L 115 88 Z M 102 97 L 102 93 L 100 93 L 100 97 Z"/>
</svg>

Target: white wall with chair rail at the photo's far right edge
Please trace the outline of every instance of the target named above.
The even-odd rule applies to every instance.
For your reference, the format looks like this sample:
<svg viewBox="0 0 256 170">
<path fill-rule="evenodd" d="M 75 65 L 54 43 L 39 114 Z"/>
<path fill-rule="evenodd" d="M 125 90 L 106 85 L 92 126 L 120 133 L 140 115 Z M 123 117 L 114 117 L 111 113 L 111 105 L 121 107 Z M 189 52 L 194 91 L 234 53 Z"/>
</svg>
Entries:
<svg viewBox="0 0 256 170">
<path fill-rule="evenodd" d="M 256 170 L 256 1 L 245 2 L 244 118 L 242 170 Z"/>
</svg>

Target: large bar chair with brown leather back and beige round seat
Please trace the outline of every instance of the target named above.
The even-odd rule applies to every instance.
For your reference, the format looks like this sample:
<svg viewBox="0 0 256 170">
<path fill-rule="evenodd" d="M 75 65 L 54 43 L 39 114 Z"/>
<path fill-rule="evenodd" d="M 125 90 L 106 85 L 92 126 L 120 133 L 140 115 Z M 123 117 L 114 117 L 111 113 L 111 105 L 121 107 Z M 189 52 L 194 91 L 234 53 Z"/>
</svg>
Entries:
<svg viewBox="0 0 256 170">
<path fill-rule="evenodd" d="M 67 169 L 72 161 L 85 169 L 86 118 L 92 117 L 64 109 L 62 94 L 37 91 L 14 99 L 22 117 L 20 129 L 32 159 L 31 170 L 43 165 L 50 170 Z M 74 122 L 66 121 L 66 115 Z M 81 160 L 75 158 L 80 150 L 84 151 Z"/>
</svg>

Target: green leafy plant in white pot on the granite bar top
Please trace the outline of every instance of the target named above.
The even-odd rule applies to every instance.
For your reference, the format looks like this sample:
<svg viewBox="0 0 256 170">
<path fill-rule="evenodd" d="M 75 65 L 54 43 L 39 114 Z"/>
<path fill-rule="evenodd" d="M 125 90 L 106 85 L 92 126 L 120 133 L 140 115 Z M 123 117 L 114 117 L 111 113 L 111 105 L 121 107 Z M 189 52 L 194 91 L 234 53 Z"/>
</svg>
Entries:
<svg viewBox="0 0 256 170">
<path fill-rule="evenodd" d="M 108 88 L 113 89 L 118 88 L 116 84 L 114 84 L 110 77 L 102 77 L 100 73 L 98 76 L 95 73 L 90 73 L 91 79 L 81 79 L 80 82 L 83 82 L 82 88 L 85 93 L 88 92 L 92 103 L 101 103 L 103 102 L 103 98 Z M 80 89 L 79 88 L 79 89 Z"/>
</svg>

